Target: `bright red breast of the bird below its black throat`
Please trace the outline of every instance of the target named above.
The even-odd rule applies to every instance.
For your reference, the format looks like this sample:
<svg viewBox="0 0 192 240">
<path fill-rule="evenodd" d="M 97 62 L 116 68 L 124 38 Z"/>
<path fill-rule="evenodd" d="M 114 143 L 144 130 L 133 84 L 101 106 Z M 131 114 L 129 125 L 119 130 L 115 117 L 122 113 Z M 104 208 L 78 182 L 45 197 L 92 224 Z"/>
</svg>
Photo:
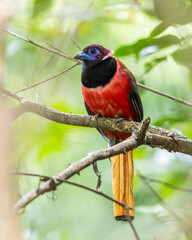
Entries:
<svg viewBox="0 0 192 240">
<path fill-rule="evenodd" d="M 82 85 L 85 102 L 92 112 L 106 117 L 131 117 L 132 106 L 128 99 L 130 83 L 124 73 L 116 76 L 104 87 L 86 88 Z"/>
</svg>

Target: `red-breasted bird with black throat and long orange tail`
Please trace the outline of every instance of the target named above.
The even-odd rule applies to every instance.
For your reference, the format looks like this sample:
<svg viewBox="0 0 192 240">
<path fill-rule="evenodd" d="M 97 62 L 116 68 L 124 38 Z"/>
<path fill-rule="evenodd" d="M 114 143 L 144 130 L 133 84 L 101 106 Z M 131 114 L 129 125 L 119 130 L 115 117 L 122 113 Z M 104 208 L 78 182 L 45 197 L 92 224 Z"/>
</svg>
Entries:
<svg viewBox="0 0 192 240">
<path fill-rule="evenodd" d="M 142 121 L 143 107 L 137 91 L 135 77 L 117 58 L 113 51 L 92 44 L 77 53 L 74 58 L 83 62 L 81 75 L 85 108 L 89 115 Z M 110 145 L 117 144 L 131 134 L 98 129 Z M 129 215 L 134 218 L 133 158 L 132 151 L 111 157 L 113 165 L 114 199 L 127 204 Z M 116 220 L 127 221 L 123 207 L 114 204 Z"/>
</svg>

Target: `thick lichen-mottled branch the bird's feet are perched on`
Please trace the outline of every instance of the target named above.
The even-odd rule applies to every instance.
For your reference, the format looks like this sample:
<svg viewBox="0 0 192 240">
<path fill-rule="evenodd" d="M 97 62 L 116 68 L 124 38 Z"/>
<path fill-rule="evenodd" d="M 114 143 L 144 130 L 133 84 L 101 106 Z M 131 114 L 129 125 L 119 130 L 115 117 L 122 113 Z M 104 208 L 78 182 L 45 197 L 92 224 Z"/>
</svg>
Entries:
<svg viewBox="0 0 192 240">
<path fill-rule="evenodd" d="M 22 99 L 20 104 L 11 109 L 13 119 L 18 118 L 26 112 L 32 112 L 41 117 L 62 124 L 100 128 L 126 133 L 137 131 L 141 126 L 141 123 L 133 121 L 123 120 L 121 122 L 117 122 L 117 119 L 112 118 L 95 118 L 94 116 L 64 113 L 50 108 L 42 103 L 26 99 Z M 187 139 L 176 132 L 168 131 L 160 127 L 149 126 L 143 144 L 152 148 L 159 147 L 168 151 L 181 152 L 192 156 L 192 140 Z"/>
</svg>

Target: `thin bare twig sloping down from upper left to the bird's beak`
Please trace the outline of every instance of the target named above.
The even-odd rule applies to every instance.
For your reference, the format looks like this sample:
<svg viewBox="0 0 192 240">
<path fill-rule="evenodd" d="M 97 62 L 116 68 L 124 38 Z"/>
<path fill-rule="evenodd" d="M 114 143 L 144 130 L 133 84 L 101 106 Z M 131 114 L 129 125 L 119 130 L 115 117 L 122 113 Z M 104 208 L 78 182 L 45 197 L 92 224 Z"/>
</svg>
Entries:
<svg viewBox="0 0 192 240">
<path fill-rule="evenodd" d="M 30 40 L 30 39 L 28 39 L 28 38 L 25 38 L 25 37 L 23 37 L 23 36 L 21 36 L 21 35 L 19 35 L 19 34 L 16 34 L 16 33 L 14 33 L 14 32 L 11 32 L 11 31 L 8 31 L 8 30 L 5 30 L 5 29 L 4 29 L 3 31 L 6 32 L 6 33 L 8 33 L 8 34 L 10 34 L 10 35 L 12 35 L 12 36 L 14 36 L 14 37 L 16 37 L 16 38 L 19 38 L 19 39 L 23 40 L 23 41 L 25 41 L 25 42 L 28 42 L 28 43 L 30 43 L 30 44 L 32 44 L 32 45 L 34 45 L 34 46 L 37 46 L 37 47 L 39 47 L 39 48 L 42 48 L 42 49 L 44 49 L 44 50 L 46 50 L 46 51 L 48 51 L 48 52 L 51 52 L 51 53 L 54 53 L 54 54 L 59 55 L 59 56 L 61 56 L 61 57 L 67 58 L 67 59 L 69 59 L 69 60 L 71 60 L 71 61 L 73 61 L 73 62 L 81 63 L 81 61 L 79 61 L 79 60 L 77 60 L 77 59 L 74 59 L 73 57 L 69 56 L 69 55 L 66 54 L 66 53 L 63 53 L 63 52 L 60 52 L 60 51 L 54 51 L 54 50 L 51 49 L 51 48 L 47 48 L 47 47 L 45 47 L 45 46 L 43 46 L 43 45 L 41 45 L 41 44 L 39 44 L 39 43 L 36 43 L 36 42 L 34 42 L 34 41 L 32 41 L 32 40 Z"/>
</svg>

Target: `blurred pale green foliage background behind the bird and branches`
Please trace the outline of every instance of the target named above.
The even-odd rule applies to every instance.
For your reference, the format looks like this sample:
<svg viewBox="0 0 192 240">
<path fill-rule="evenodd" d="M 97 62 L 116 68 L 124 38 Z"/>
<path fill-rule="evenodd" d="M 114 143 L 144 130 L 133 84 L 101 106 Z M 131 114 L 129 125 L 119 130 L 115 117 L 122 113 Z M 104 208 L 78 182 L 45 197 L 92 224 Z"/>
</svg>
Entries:
<svg viewBox="0 0 192 240">
<path fill-rule="evenodd" d="M 15 16 L 8 29 L 38 43 L 51 43 L 73 56 L 91 43 L 116 49 L 115 54 L 138 81 L 192 102 L 192 2 L 190 0 L 16 0 Z M 7 35 L 5 38 L 5 87 L 19 90 L 47 79 L 67 67 L 69 60 Z M 80 86 L 80 67 L 21 96 L 58 110 L 85 114 Z M 191 109 L 157 94 L 139 89 L 145 117 L 152 124 L 176 130 L 192 138 Z M 14 104 L 10 101 L 10 106 Z M 107 147 L 94 129 L 64 126 L 33 114 L 14 124 L 15 168 L 54 175 L 88 152 Z M 143 175 L 191 187 L 191 157 L 160 149 L 134 151 L 135 170 Z M 100 161 L 101 190 L 111 192 L 111 163 Z M 95 188 L 91 167 L 73 181 Z M 24 194 L 38 179 L 18 177 Z M 163 200 L 188 223 L 192 222 L 192 196 L 153 183 Z M 135 177 L 135 227 L 143 240 L 192 239 L 190 231 L 168 213 Z M 55 199 L 55 200 L 50 200 Z M 93 193 L 63 184 L 26 208 L 22 216 L 27 240 L 134 239 L 128 224 L 113 219 L 112 203 Z M 153 226 L 153 227 L 151 227 Z"/>
</svg>

